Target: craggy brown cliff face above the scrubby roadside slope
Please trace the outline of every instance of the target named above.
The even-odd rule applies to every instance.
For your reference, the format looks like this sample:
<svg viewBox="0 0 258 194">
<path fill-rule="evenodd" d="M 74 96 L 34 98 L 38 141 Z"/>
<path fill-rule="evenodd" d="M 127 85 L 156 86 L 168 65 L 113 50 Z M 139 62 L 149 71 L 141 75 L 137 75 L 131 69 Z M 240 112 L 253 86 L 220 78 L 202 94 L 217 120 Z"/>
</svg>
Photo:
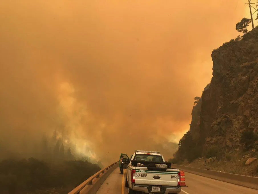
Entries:
<svg viewBox="0 0 258 194">
<path fill-rule="evenodd" d="M 213 77 L 193 108 L 189 131 L 201 156 L 213 146 L 222 153 L 239 150 L 245 131 L 258 137 L 258 28 L 214 50 L 212 61 Z M 258 146 L 257 140 L 249 143 Z"/>
</svg>

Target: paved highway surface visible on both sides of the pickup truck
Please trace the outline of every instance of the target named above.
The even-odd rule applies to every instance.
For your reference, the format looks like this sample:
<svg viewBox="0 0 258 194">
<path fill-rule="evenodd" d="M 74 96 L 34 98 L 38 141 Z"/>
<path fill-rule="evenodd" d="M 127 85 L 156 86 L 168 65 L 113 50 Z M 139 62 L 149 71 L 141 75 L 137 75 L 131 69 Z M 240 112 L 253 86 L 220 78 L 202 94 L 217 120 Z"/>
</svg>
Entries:
<svg viewBox="0 0 258 194">
<path fill-rule="evenodd" d="M 185 173 L 186 185 L 180 194 L 258 194 L 258 190 L 225 183 L 215 179 Z M 127 194 L 124 175 L 116 168 L 101 185 L 97 194 Z"/>
</svg>

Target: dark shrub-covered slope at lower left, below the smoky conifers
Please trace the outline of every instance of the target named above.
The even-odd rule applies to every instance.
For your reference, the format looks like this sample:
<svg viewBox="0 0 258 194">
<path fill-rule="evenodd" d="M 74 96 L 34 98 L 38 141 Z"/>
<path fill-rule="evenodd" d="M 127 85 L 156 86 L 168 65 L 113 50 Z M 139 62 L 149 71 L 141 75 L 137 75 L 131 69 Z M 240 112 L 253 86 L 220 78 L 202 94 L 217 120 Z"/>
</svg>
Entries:
<svg viewBox="0 0 258 194">
<path fill-rule="evenodd" d="M 0 193 L 65 194 L 99 170 L 97 164 L 82 160 L 7 159 L 0 161 Z"/>
</svg>

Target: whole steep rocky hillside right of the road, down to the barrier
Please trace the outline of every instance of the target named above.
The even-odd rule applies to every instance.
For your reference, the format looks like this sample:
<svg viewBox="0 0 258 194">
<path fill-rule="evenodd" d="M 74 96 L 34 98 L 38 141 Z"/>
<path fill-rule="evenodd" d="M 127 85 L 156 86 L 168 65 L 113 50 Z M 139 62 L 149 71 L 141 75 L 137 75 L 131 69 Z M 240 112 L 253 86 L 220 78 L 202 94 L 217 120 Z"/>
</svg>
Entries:
<svg viewBox="0 0 258 194">
<path fill-rule="evenodd" d="M 173 162 L 257 175 L 257 160 L 244 163 L 258 156 L 258 28 L 214 50 L 212 60 L 211 83 Z"/>
</svg>

